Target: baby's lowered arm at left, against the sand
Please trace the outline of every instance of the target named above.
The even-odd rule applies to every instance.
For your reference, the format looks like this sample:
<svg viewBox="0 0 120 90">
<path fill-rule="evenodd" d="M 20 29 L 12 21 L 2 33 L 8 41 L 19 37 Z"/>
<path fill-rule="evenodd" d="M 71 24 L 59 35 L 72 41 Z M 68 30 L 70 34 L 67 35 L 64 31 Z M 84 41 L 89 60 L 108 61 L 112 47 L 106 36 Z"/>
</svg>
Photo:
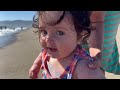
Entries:
<svg viewBox="0 0 120 90">
<path fill-rule="evenodd" d="M 31 79 L 38 78 L 41 64 L 42 64 L 42 60 L 41 60 L 41 53 L 40 53 L 29 70 L 29 77 Z"/>
</svg>

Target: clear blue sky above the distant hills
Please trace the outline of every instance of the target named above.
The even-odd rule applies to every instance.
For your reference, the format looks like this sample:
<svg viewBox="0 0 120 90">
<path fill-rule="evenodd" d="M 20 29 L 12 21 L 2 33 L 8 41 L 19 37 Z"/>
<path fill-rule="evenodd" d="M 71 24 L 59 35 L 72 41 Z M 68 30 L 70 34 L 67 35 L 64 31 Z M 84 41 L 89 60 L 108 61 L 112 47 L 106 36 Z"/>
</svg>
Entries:
<svg viewBox="0 0 120 90">
<path fill-rule="evenodd" d="M 36 11 L 0 11 L 0 21 L 32 20 Z"/>
</svg>

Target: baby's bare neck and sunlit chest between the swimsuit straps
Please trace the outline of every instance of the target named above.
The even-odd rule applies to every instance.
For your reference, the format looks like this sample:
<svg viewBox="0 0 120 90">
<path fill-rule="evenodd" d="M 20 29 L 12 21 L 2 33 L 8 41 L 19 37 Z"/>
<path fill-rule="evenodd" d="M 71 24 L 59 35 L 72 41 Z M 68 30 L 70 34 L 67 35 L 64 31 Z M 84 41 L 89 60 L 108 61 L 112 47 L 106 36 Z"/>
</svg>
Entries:
<svg viewBox="0 0 120 90">
<path fill-rule="evenodd" d="M 59 77 L 64 72 L 66 67 L 72 62 L 75 52 L 76 49 L 67 57 L 60 59 L 52 57 L 50 58 L 47 64 L 52 77 L 54 78 Z"/>
</svg>

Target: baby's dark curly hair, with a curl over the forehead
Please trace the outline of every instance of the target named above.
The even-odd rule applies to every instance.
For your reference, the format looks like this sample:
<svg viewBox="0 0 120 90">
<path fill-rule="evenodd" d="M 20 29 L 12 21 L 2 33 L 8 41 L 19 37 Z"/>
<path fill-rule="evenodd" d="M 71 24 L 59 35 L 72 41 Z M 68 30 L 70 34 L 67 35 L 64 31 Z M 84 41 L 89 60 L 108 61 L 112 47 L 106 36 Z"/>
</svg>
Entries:
<svg viewBox="0 0 120 90">
<path fill-rule="evenodd" d="M 46 24 L 49 24 L 51 26 L 59 24 L 63 20 L 65 13 L 69 12 L 72 15 L 77 36 L 84 37 L 82 40 L 82 44 L 86 44 L 91 34 L 91 31 L 95 29 L 90 22 L 91 11 L 59 11 L 59 12 L 62 12 L 62 13 L 59 14 L 59 17 L 55 18 L 54 22 L 47 23 L 45 21 Z M 45 11 L 37 11 L 36 15 L 33 17 L 33 27 L 38 29 L 38 31 L 36 32 L 40 31 L 39 17 L 42 18 L 43 15 L 46 15 Z M 80 36 L 81 32 L 83 31 L 86 31 L 87 33 Z"/>
</svg>

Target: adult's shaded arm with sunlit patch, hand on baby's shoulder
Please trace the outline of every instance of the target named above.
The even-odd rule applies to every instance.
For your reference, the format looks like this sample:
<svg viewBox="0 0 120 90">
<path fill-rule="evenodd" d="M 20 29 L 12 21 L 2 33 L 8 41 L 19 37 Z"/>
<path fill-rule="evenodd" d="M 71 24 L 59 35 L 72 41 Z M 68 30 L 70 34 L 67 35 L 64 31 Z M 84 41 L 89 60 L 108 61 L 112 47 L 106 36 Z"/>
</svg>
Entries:
<svg viewBox="0 0 120 90">
<path fill-rule="evenodd" d="M 95 61 L 89 64 L 89 68 L 97 68 L 101 63 L 101 50 L 104 38 L 104 17 L 105 11 L 92 11 L 90 17 L 92 25 L 96 28 L 96 30 L 91 32 L 89 39 L 90 56 L 95 58 Z"/>
</svg>

